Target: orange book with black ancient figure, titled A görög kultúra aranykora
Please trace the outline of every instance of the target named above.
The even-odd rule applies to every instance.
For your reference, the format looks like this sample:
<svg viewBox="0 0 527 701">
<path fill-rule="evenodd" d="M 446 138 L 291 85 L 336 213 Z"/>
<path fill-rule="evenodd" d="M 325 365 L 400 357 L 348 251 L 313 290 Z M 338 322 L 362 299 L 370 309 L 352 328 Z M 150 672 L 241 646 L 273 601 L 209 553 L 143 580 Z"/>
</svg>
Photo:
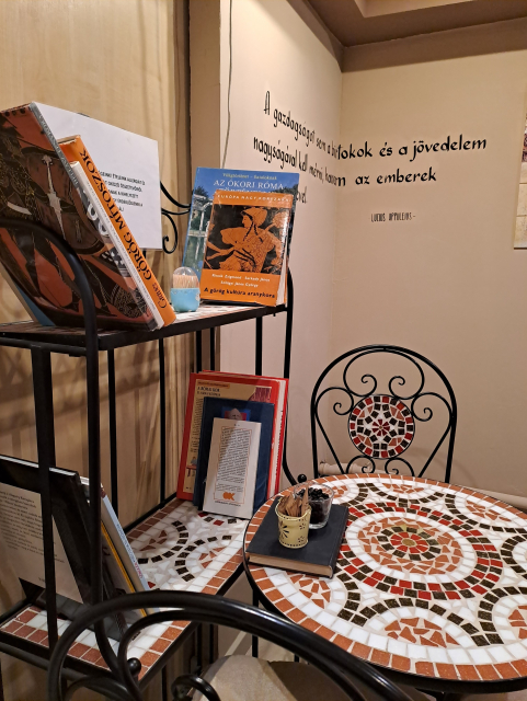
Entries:
<svg viewBox="0 0 527 701">
<path fill-rule="evenodd" d="M 293 203 L 290 194 L 216 191 L 202 299 L 283 303 Z"/>
</svg>

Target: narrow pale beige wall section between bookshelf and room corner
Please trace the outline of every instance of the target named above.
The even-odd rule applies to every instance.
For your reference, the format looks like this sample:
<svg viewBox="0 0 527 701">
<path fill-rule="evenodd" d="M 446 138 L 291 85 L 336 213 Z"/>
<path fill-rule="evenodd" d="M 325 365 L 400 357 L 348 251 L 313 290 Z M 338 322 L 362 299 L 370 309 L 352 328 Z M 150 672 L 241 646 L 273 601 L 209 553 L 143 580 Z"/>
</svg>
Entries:
<svg viewBox="0 0 527 701">
<path fill-rule="evenodd" d="M 247 170 L 279 170 L 254 150 L 257 137 L 289 152 L 308 154 L 309 165 L 330 173 L 337 162 L 283 126 L 274 127 L 274 110 L 314 129 L 316 139 L 337 141 L 341 71 L 331 37 L 307 22 L 286 0 L 233 2 L 230 136 L 226 165 Z M 225 143 L 228 90 L 229 2 L 221 3 L 221 131 Z M 302 10 L 301 7 L 298 8 Z M 309 26 L 308 26 L 309 22 Z M 312 27 L 312 28 L 311 28 Z M 314 30 L 314 32 L 313 32 Z M 270 91 L 271 115 L 264 113 Z M 284 170 L 295 170 L 285 165 Z M 309 400 L 325 367 L 331 329 L 331 285 L 337 187 L 300 173 L 307 203 L 296 209 L 290 269 L 295 280 L 295 318 L 289 395 L 287 453 L 294 474 L 310 472 Z M 264 321 L 264 375 L 283 375 L 285 315 Z M 254 322 L 221 330 L 221 369 L 254 371 Z"/>
</svg>

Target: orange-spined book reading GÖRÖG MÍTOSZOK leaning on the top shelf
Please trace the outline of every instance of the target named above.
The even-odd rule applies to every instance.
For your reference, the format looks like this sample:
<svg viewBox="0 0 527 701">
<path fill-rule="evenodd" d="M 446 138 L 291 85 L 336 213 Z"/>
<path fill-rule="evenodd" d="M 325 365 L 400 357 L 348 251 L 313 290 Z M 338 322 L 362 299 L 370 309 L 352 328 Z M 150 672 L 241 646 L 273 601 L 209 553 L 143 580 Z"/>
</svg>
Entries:
<svg viewBox="0 0 527 701">
<path fill-rule="evenodd" d="M 89 216 L 91 211 L 96 214 L 101 234 L 110 237 L 127 273 L 134 278 L 137 289 L 156 319 L 158 327 L 171 324 L 175 319 L 174 310 L 164 296 L 142 251 L 137 245 L 134 234 L 126 226 L 112 193 L 98 171 L 81 137 L 76 136 L 72 139 L 60 140 L 59 146 L 92 206 Z"/>
</svg>

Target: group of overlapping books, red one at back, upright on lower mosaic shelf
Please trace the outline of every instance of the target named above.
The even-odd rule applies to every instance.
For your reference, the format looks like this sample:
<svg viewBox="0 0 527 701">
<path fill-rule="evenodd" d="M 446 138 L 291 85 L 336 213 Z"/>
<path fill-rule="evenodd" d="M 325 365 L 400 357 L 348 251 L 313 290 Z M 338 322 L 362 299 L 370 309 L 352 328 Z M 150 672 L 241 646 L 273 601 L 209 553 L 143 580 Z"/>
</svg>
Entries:
<svg viewBox="0 0 527 701">
<path fill-rule="evenodd" d="M 250 518 L 279 491 L 288 380 L 191 375 L 177 496 Z"/>
</svg>

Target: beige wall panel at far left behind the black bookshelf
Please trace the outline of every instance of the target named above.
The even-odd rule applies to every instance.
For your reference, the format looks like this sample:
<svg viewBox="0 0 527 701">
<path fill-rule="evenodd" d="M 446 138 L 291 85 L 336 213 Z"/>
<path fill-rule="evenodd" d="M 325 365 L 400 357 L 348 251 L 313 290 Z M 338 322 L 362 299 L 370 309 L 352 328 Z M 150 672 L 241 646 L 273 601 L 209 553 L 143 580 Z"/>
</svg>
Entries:
<svg viewBox="0 0 527 701">
<path fill-rule="evenodd" d="M 3 0 L 0 108 L 37 100 L 157 139 L 162 180 L 184 202 L 188 197 L 185 7 L 185 2 L 172 0 Z M 168 273 L 176 265 L 176 256 L 164 262 L 161 254 L 150 258 L 165 287 Z M 22 318 L 21 306 L 0 283 L 0 321 Z M 169 490 L 173 490 L 182 424 L 176 421 L 176 412 L 186 399 L 190 348 L 184 341 L 167 346 Z M 100 360 L 103 481 L 110 489 L 105 357 L 101 355 Z M 116 366 L 121 519 L 126 524 L 157 498 L 157 347 L 147 344 L 117 350 Z M 57 356 L 53 367 L 57 462 L 85 473 L 84 364 Z M 0 451 L 35 459 L 27 352 L 1 349 L 0 387 Z M 5 561 L 0 581 L 4 609 L 19 594 Z M 41 673 L 3 655 L 2 669 L 7 699 L 45 698 Z"/>
</svg>

